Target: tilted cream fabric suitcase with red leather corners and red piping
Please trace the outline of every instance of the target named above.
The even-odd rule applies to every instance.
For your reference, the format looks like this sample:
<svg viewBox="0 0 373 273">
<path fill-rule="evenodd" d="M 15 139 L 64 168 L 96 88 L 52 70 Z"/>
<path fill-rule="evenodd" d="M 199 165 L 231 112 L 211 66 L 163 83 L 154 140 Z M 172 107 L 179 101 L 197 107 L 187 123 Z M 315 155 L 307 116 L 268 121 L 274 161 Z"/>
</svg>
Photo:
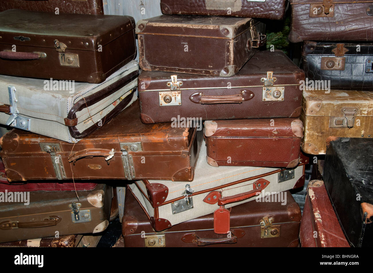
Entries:
<svg viewBox="0 0 373 273">
<path fill-rule="evenodd" d="M 213 191 L 222 191 L 223 197 L 252 191 L 254 182 L 268 183 L 259 196 L 225 205 L 225 208 L 236 206 L 247 201 L 262 200 L 268 193 L 279 193 L 292 188 L 302 187 L 304 184 L 304 166 L 308 158 L 301 155 L 301 163 L 294 169 L 210 166 L 206 161 L 206 144 L 202 143 L 200 155 L 195 167 L 195 176 L 192 182 L 172 182 L 144 180 L 129 184 L 129 190 L 145 208 L 154 230 L 162 231 L 181 222 L 185 222 L 219 209 L 217 203 L 209 204 L 203 200 Z M 264 180 L 263 180 L 264 179 Z M 192 191 L 192 192 L 191 192 Z M 260 192 L 260 191 L 259 191 Z M 209 198 L 209 197 L 207 197 Z M 214 195 L 210 203 L 213 203 Z M 218 196 L 216 198 L 217 201 Z M 264 199 L 265 200 L 265 199 Z"/>
</svg>

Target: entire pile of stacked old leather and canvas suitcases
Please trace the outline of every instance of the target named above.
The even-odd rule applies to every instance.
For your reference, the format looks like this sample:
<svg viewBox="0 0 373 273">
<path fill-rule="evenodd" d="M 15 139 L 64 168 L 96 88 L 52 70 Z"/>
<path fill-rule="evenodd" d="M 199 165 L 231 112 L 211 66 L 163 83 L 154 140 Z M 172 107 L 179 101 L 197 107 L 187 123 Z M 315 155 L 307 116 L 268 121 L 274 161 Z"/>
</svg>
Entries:
<svg viewBox="0 0 373 273">
<path fill-rule="evenodd" d="M 313 18 L 330 26 L 351 3 L 291 2 L 292 42 L 348 33 L 341 27 L 323 36 Z M 136 24 L 131 14 L 56 17 L 50 7 L 2 5 L 0 123 L 14 129 L 0 139 L 7 178 L 0 180 L 0 242 L 61 235 L 38 244 L 72 246 L 76 234 L 104 231 L 116 180 L 126 247 L 369 245 L 371 194 L 351 204 L 363 220 L 341 205 L 344 194 L 352 203 L 352 194 L 369 191 L 369 177 L 338 187 L 332 170 L 343 145 L 357 149 L 344 137 L 371 136 L 371 45 L 359 44 L 361 56 L 346 60 L 355 45 L 305 42 L 305 75 L 282 51 L 263 50 L 265 25 L 252 19 L 282 19 L 284 0 L 161 0 L 163 15 Z M 365 25 L 348 31 L 350 40 L 372 41 Z M 363 66 L 369 75 L 355 77 Z M 308 88 L 329 79 L 324 70 L 332 88 L 355 90 Z M 304 186 L 308 155 L 325 154 L 327 145 L 326 187 L 310 182 L 302 216 L 289 190 Z M 320 211 L 332 219 L 319 221 Z M 327 228 L 340 240 L 325 238 Z"/>
</svg>

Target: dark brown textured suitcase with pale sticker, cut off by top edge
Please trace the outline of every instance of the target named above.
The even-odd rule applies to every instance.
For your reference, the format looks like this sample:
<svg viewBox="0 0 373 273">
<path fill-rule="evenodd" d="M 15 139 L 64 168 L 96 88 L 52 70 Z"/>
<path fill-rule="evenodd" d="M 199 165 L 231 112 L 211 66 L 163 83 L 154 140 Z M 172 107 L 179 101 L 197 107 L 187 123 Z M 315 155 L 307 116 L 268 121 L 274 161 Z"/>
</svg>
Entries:
<svg viewBox="0 0 373 273">
<path fill-rule="evenodd" d="M 282 20 L 285 0 L 161 0 L 163 14 L 236 16 Z"/>
</svg>

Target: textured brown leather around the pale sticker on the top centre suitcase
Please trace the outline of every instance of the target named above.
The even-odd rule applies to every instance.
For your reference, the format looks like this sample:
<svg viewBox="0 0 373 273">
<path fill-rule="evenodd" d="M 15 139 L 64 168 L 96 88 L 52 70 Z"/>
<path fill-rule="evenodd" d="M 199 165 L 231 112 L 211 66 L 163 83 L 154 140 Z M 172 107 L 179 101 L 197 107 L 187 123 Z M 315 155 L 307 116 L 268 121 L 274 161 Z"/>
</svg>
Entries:
<svg viewBox="0 0 373 273">
<path fill-rule="evenodd" d="M 286 10 L 285 0 L 266 0 L 265 2 L 248 2 L 247 0 L 241 1 L 241 10 L 232 11 L 230 15 L 228 14 L 227 10 L 206 9 L 206 0 L 161 0 L 161 10 L 163 14 L 213 16 L 222 15 L 250 18 L 266 18 L 271 20 L 283 19 Z"/>
</svg>

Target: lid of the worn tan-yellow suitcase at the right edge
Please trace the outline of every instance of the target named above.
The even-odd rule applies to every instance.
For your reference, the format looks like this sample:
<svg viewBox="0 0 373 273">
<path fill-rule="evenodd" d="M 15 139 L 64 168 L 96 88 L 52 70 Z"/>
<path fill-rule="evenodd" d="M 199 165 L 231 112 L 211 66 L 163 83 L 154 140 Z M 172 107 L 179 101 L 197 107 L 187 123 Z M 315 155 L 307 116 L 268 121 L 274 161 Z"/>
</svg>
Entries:
<svg viewBox="0 0 373 273">
<path fill-rule="evenodd" d="M 321 82 L 321 81 L 319 81 Z M 307 81 L 305 82 L 307 86 Z M 373 92 L 356 90 L 304 90 L 306 116 L 373 116 Z M 345 110 L 344 110 L 345 109 Z"/>
</svg>

